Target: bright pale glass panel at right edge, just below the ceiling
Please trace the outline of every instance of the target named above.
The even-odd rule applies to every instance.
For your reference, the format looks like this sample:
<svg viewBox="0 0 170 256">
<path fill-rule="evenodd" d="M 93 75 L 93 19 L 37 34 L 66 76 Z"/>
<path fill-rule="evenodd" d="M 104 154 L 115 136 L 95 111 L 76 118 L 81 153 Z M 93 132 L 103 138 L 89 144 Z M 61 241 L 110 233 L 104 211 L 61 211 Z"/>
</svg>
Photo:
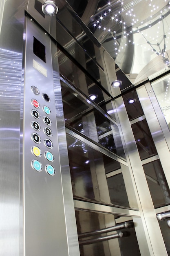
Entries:
<svg viewBox="0 0 170 256">
<path fill-rule="evenodd" d="M 164 79 L 152 83 L 152 88 L 170 129 L 170 75 L 166 76 Z"/>
</svg>

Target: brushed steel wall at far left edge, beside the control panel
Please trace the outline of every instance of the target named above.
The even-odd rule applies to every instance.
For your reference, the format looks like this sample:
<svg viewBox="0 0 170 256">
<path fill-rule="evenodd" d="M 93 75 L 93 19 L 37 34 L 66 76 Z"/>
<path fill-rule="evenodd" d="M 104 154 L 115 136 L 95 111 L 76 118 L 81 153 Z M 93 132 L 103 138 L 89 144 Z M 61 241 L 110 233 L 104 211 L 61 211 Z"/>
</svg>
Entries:
<svg viewBox="0 0 170 256">
<path fill-rule="evenodd" d="M 20 191 L 23 1 L 1 1 L 0 17 L 0 256 L 16 256 L 23 255 Z"/>
</svg>

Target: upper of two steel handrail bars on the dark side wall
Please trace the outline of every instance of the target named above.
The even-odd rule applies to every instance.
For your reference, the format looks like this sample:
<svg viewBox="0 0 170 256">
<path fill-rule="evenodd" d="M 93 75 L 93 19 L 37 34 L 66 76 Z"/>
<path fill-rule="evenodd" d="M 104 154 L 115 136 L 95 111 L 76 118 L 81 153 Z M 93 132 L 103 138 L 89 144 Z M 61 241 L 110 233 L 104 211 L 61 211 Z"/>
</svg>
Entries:
<svg viewBox="0 0 170 256">
<path fill-rule="evenodd" d="M 133 222 L 131 220 L 128 221 L 128 222 L 126 221 L 124 223 L 117 224 L 113 227 L 107 227 L 105 229 L 100 229 L 100 230 L 95 230 L 95 231 L 79 234 L 79 238 L 83 238 L 83 237 L 86 237 L 86 236 L 95 236 L 95 235 L 98 235 L 98 234 L 117 231 L 119 229 L 130 228 L 130 227 L 133 227 Z"/>
</svg>

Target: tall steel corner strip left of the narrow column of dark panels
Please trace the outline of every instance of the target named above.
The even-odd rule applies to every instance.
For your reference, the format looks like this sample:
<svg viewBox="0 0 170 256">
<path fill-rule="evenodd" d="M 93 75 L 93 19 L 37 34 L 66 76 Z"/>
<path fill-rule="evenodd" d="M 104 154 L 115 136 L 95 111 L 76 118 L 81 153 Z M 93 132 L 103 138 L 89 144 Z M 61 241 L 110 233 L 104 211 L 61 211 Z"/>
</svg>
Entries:
<svg viewBox="0 0 170 256">
<path fill-rule="evenodd" d="M 129 175 L 132 179 L 132 186 L 137 198 L 142 226 L 144 228 L 143 230 L 145 238 L 141 237 L 140 229 L 136 229 L 139 247 L 148 248 L 147 253 L 145 252 L 146 254 L 144 255 L 167 255 L 160 227 L 155 215 L 155 209 L 150 196 L 150 191 L 148 189 L 148 184 L 146 182 L 144 170 L 142 168 L 137 146 L 135 144 L 135 138 L 132 134 L 130 122 L 124 107 L 123 99 L 121 97 L 115 99 L 115 105 L 128 151 L 127 162 L 132 168 L 132 172 L 131 168 L 129 168 Z M 126 189 L 128 193 L 127 186 Z M 128 196 L 130 195 L 128 194 Z"/>
</svg>

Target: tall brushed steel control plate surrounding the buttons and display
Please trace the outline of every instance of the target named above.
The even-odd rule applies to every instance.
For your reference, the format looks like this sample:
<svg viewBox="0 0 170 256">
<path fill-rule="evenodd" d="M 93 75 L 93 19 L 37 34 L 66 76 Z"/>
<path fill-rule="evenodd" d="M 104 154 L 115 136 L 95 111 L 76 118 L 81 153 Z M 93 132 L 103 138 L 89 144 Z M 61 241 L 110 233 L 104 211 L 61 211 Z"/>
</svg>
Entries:
<svg viewBox="0 0 170 256">
<path fill-rule="evenodd" d="M 33 54 L 33 37 L 40 41 L 46 49 L 46 63 Z M 33 67 L 33 59 L 47 70 L 47 77 Z M 34 85 L 40 91 L 35 95 L 31 90 Z M 49 95 L 50 101 L 45 101 L 43 93 Z M 37 108 L 40 113 L 40 131 L 31 127 L 34 120 L 31 115 L 31 99 L 40 103 Z M 52 124 L 44 124 L 42 107 L 48 106 L 51 110 Z M 43 127 L 48 126 L 52 130 L 50 137 L 53 148 L 48 149 L 44 139 L 49 138 L 43 132 Z M 31 139 L 32 132 L 36 132 L 41 143 L 36 144 Z M 31 153 L 31 147 L 38 146 L 42 151 L 40 157 Z M 24 245 L 25 255 L 69 255 L 68 240 L 65 223 L 63 202 L 62 178 L 60 168 L 60 155 L 58 149 L 58 133 L 55 114 L 55 98 L 53 87 L 53 69 L 51 60 L 51 40 L 38 25 L 27 18 L 26 30 L 26 57 L 25 57 L 25 84 L 24 84 Z M 45 157 L 45 151 L 49 150 L 54 155 L 54 161 L 49 162 Z M 31 162 L 39 160 L 42 163 L 42 171 L 35 171 Z M 46 164 L 55 168 L 55 174 L 49 175 L 45 171 Z"/>
</svg>

